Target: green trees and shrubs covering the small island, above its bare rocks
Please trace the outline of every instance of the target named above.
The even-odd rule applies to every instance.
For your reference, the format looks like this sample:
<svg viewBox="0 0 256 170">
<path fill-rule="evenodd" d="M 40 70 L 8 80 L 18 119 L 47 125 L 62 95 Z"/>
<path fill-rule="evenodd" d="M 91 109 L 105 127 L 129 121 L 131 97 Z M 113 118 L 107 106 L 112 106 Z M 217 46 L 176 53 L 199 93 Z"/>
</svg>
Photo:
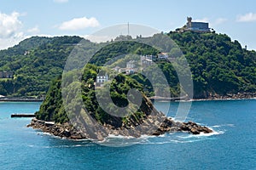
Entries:
<svg viewBox="0 0 256 170">
<path fill-rule="evenodd" d="M 113 127 L 121 127 L 125 125 L 131 125 L 133 122 L 140 122 L 146 115 L 150 113 L 148 111 L 148 105 L 146 105 L 146 96 L 143 93 L 143 87 L 137 81 L 131 77 L 119 74 L 114 77 L 113 82 L 107 82 L 105 85 L 109 85 L 110 99 L 113 103 L 108 103 L 108 93 L 105 88 L 96 88 L 96 75 L 101 70 L 101 67 L 96 65 L 86 65 L 83 71 L 83 77 L 81 82 L 75 82 L 76 71 L 69 71 L 65 74 L 65 77 L 71 81 L 62 82 L 67 83 L 61 86 L 61 77 L 57 77 L 49 88 L 46 99 L 40 106 L 40 110 L 35 113 L 36 117 L 44 121 L 54 121 L 64 123 L 67 122 L 70 117 L 78 118 L 80 114 L 90 114 L 90 116 L 96 120 L 96 122 L 109 124 Z M 67 80 L 67 79 L 66 79 Z M 62 88 L 62 89 L 61 89 Z M 136 88 L 141 92 L 141 99 L 143 99 L 142 105 L 129 104 L 129 99 L 136 103 L 136 95 L 128 94 L 128 91 Z M 62 91 L 61 91 L 62 90 Z M 79 90 L 79 94 L 76 92 Z M 96 94 L 97 93 L 97 94 Z M 62 99 L 61 94 L 66 94 L 65 99 Z M 96 96 L 97 95 L 97 96 Z M 71 97 L 72 96 L 72 97 Z M 79 102 L 79 98 L 82 99 L 82 104 Z M 102 105 L 99 105 L 99 100 L 102 100 L 106 105 L 102 109 Z M 139 101 L 141 102 L 141 101 Z M 65 106 L 63 105 L 65 103 Z M 82 107 L 84 105 L 86 111 L 83 113 Z M 118 107 L 116 107 L 116 105 Z M 123 108 L 127 107 L 124 113 Z M 141 108 L 140 108 L 141 107 Z M 65 110 L 66 109 L 66 110 Z M 147 109 L 147 111 L 146 111 Z M 107 110 L 107 111 L 106 111 Z M 120 111 L 122 110 L 122 111 Z M 134 112 L 133 112 L 134 111 Z M 71 113 L 68 115 L 68 113 Z M 73 113 L 79 113 L 79 115 L 73 115 Z M 108 113 L 111 113 L 109 115 Z M 123 115 L 119 115 L 123 114 Z M 124 115 L 125 114 L 125 115 Z M 85 116 L 86 117 L 86 116 Z"/>
</svg>

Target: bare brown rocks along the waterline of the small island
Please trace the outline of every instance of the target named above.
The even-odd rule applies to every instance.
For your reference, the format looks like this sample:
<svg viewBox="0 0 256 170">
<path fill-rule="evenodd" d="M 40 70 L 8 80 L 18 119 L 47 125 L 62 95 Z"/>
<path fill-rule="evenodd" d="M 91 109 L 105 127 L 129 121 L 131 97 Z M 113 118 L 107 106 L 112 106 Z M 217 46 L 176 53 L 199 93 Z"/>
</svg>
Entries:
<svg viewBox="0 0 256 170">
<path fill-rule="evenodd" d="M 154 122 L 152 126 L 148 127 L 148 123 L 152 122 L 153 119 L 148 119 L 147 123 L 140 127 L 119 127 L 114 128 L 112 126 L 107 126 L 102 132 L 95 132 L 94 139 L 103 140 L 109 134 L 115 136 L 122 135 L 126 137 L 135 137 L 139 138 L 143 134 L 150 136 L 159 136 L 164 133 L 176 133 L 176 132 L 185 132 L 192 134 L 200 133 L 212 133 L 212 129 L 208 127 L 203 127 L 196 124 L 195 122 L 174 122 L 172 118 L 164 118 L 162 123 Z M 27 127 L 32 127 L 34 129 L 40 129 L 44 133 L 50 133 L 55 136 L 67 139 L 91 139 L 90 134 L 84 133 L 77 130 L 69 123 L 57 124 L 55 122 L 44 122 L 36 118 L 32 119 L 32 122 L 27 125 Z"/>
</svg>

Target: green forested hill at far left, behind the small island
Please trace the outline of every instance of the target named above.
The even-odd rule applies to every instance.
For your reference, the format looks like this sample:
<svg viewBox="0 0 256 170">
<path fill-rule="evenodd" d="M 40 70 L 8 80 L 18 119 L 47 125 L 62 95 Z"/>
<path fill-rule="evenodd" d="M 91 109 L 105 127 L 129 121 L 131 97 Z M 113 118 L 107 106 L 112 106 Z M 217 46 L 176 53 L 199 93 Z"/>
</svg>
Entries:
<svg viewBox="0 0 256 170">
<path fill-rule="evenodd" d="M 82 38 L 32 37 L 0 52 L 0 71 L 14 71 L 0 79 L 0 92 L 9 96 L 44 96 L 49 82 L 61 75 L 67 56 Z"/>
</svg>

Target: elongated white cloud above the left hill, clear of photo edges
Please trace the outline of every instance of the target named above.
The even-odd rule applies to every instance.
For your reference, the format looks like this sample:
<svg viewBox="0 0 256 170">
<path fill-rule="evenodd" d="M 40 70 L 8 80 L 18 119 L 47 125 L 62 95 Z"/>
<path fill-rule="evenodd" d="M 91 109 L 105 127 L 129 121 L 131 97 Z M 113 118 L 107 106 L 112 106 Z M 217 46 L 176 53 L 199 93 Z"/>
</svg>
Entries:
<svg viewBox="0 0 256 170">
<path fill-rule="evenodd" d="M 69 30 L 69 31 L 76 31 L 76 30 L 82 30 L 87 27 L 96 27 L 100 26 L 99 21 L 96 20 L 96 18 L 91 17 L 90 19 L 87 19 L 86 17 L 82 18 L 74 18 L 73 20 L 65 21 L 61 24 L 61 26 L 58 26 L 60 30 Z"/>
</svg>

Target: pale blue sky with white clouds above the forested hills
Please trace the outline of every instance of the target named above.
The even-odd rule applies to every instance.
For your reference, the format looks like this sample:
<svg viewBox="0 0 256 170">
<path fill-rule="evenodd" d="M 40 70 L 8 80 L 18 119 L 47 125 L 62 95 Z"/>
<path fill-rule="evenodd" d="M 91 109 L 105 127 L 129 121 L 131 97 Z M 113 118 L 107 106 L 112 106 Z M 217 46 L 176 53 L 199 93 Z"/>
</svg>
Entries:
<svg viewBox="0 0 256 170">
<path fill-rule="evenodd" d="M 246 2 L 246 3 L 245 3 Z M 173 31 L 186 17 L 202 20 L 249 49 L 256 49 L 256 1 L 1 0 L 0 48 L 34 35 L 90 35 L 127 22 Z"/>
</svg>

